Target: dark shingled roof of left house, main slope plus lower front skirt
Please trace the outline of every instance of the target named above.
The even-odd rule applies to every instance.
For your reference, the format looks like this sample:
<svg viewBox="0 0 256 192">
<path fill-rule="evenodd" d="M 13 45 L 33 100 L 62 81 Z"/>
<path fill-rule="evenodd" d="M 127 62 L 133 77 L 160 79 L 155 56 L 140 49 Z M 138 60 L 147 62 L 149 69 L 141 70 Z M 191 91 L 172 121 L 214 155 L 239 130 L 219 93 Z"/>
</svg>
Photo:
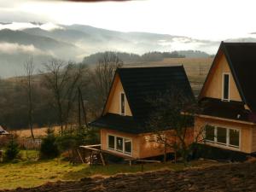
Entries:
<svg viewBox="0 0 256 192">
<path fill-rule="evenodd" d="M 90 125 L 106 127 L 108 124 L 109 128 L 119 131 L 147 132 L 145 123 L 152 113 L 150 98 L 165 93 L 167 90 L 178 90 L 190 99 L 195 98 L 183 66 L 121 67 L 117 69 L 116 73 L 119 74 L 133 117 L 118 117 L 120 115 L 108 113 Z M 129 124 L 127 124 L 129 127 L 126 127 L 125 120 L 128 121 L 128 119 L 130 119 Z M 100 124 L 98 124 L 99 121 Z M 119 125 L 116 125 L 115 121 L 116 123 L 119 122 Z"/>
</svg>

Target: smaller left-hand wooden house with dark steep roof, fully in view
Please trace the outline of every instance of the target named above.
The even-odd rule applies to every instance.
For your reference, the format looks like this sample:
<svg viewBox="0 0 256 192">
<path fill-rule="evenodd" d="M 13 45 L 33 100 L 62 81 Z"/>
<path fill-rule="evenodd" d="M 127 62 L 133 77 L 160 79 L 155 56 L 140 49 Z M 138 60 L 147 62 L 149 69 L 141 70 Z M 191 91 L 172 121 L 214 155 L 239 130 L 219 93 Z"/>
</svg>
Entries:
<svg viewBox="0 0 256 192">
<path fill-rule="evenodd" d="M 164 154 L 157 143 L 149 141 L 154 134 L 147 129 L 147 121 L 154 109 L 148 98 L 173 85 L 194 98 L 183 66 L 118 68 L 102 116 L 90 123 L 101 129 L 101 149 L 133 159 Z"/>
</svg>

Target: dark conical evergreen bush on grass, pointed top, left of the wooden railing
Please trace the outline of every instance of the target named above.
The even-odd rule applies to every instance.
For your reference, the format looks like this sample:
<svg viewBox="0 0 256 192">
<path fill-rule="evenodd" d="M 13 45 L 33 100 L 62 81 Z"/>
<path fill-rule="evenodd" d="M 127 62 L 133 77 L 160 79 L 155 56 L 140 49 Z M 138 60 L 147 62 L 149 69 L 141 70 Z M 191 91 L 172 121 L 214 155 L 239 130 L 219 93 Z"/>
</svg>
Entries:
<svg viewBox="0 0 256 192">
<path fill-rule="evenodd" d="M 47 129 L 47 137 L 43 138 L 40 148 L 40 159 L 52 159 L 60 155 L 58 145 L 55 143 L 54 131 Z"/>
</svg>

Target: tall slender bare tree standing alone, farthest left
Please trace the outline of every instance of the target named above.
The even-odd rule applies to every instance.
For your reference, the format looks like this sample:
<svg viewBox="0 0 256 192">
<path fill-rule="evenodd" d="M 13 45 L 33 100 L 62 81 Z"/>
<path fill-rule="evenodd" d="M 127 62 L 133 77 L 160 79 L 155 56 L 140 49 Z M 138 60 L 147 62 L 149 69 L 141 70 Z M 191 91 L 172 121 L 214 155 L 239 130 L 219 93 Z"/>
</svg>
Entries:
<svg viewBox="0 0 256 192">
<path fill-rule="evenodd" d="M 34 140 L 34 134 L 33 134 L 33 103 L 32 103 L 32 75 L 34 73 L 34 64 L 33 64 L 33 57 L 30 56 L 25 64 L 25 73 L 26 73 L 26 81 L 25 81 L 25 87 L 26 87 L 26 95 L 27 95 L 27 106 L 28 106 L 28 125 L 31 131 L 32 139 Z"/>
</svg>

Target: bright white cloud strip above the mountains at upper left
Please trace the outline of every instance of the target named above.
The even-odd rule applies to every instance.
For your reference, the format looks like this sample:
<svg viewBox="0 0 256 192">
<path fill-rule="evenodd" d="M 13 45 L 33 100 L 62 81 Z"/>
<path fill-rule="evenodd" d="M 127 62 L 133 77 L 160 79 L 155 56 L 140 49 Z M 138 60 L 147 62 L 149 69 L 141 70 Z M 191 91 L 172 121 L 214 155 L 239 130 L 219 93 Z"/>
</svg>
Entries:
<svg viewBox="0 0 256 192">
<path fill-rule="evenodd" d="M 10 29 L 10 30 L 22 30 L 27 28 L 41 28 L 47 31 L 54 30 L 54 29 L 61 29 L 61 26 L 57 26 L 53 23 L 27 23 L 27 22 L 12 22 L 12 23 L 0 23 L 0 30 L 2 29 Z"/>
</svg>

